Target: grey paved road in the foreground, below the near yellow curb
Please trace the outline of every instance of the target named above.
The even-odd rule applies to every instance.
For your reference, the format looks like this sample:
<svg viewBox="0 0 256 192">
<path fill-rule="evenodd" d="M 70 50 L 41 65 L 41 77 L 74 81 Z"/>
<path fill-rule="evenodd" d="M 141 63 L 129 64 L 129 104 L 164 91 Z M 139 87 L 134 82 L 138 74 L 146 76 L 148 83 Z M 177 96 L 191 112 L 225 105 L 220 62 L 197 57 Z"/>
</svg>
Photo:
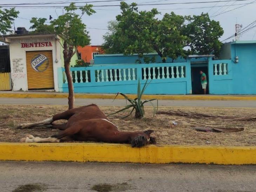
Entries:
<svg viewBox="0 0 256 192">
<path fill-rule="evenodd" d="M 25 187 L 46 192 L 92 192 L 100 187 L 105 192 L 256 191 L 256 167 L 252 165 L 7 161 L 0 162 L 0 170 L 1 192 L 25 192 Z"/>
</svg>

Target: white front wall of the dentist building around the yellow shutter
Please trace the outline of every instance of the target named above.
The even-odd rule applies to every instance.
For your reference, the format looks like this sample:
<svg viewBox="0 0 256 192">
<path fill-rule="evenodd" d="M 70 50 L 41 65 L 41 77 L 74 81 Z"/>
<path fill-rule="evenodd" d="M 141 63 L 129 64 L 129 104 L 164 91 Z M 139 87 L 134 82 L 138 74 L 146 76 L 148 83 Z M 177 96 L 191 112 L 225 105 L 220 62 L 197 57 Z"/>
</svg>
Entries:
<svg viewBox="0 0 256 192">
<path fill-rule="evenodd" d="M 21 43 L 35 43 L 35 42 L 51 42 L 52 46 L 48 47 L 25 47 L 21 48 Z M 57 43 L 56 43 L 57 42 Z M 11 61 L 11 78 L 14 91 L 27 91 L 27 67 L 26 67 L 26 51 L 46 51 L 52 50 L 53 53 L 53 76 L 54 76 L 54 89 L 59 91 L 58 88 L 58 73 L 57 68 L 61 67 L 61 49 L 60 44 L 56 41 L 55 37 L 38 37 L 26 36 L 26 38 L 11 39 L 9 45 L 10 61 Z M 58 62 L 55 62 L 57 61 Z M 18 67 L 17 67 L 18 66 Z"/>
</svg>

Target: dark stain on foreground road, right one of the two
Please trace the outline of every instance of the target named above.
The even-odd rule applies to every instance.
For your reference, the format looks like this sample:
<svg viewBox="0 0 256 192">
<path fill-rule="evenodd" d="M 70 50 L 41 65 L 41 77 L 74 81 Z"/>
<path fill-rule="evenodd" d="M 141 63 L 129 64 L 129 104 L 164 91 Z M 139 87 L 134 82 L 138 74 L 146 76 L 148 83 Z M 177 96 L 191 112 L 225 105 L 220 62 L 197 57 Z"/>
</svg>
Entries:
<svg viewBox="0 0 256 192">
<path fill-rule="evenodd" d="M 110 191 L 126 191 L 135 189 L 128 183 L 117 183 L 117 184 L 97 184 L 91 187 L 94 191 L 99 192 L 110 192 Z"/>
</svg>

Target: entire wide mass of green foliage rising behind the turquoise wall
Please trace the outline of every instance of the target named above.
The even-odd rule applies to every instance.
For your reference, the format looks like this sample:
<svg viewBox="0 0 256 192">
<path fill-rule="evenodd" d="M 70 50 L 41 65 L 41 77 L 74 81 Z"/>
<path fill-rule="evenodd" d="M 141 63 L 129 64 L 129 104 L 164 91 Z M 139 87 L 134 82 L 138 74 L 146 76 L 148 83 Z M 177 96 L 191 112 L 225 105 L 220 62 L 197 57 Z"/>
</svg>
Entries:
<svg viewBox="0 0 256 192">
<path fill-rule="evenodd" d="M 166 13 L 157 19 L 157 9 L 138 11 L 136 3 L 128 5 L 121 2 L 121 14 L 116 21 L 109 23 L 109 32 L 103 36 L 107 53 L 137 53 L 140 58 L 148 59 L 143 53 L 157 52 L 165 62 L 188 54 L 218 54 L 223 35 L 220 23 L 210 20 L 208 14 L 181 16 L 174 12 Z M 186 24 L 188 23 L 188 24 Z M 184 47 L 189 46 L 188 50 Z"/>
</svg>

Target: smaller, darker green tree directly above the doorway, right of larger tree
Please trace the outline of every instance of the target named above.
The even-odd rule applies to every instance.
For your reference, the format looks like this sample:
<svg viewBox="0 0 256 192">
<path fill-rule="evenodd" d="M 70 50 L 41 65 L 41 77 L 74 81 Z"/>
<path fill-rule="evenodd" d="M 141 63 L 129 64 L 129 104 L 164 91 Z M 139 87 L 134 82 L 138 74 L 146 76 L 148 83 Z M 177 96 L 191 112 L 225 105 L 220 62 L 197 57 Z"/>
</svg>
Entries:
<svg viewBox="0 0 256 192">
<path fill-rule="evenodd" d="M 218 56 L 222 43 L 219 38 L 224 31 L 218 21 L 210 20 L 208 13 L 187 16 L 188 24 L 183 28 L 183 34 L 189 37 L 187 42 L 191 54 L 210 54 Z"/>
</svg>

